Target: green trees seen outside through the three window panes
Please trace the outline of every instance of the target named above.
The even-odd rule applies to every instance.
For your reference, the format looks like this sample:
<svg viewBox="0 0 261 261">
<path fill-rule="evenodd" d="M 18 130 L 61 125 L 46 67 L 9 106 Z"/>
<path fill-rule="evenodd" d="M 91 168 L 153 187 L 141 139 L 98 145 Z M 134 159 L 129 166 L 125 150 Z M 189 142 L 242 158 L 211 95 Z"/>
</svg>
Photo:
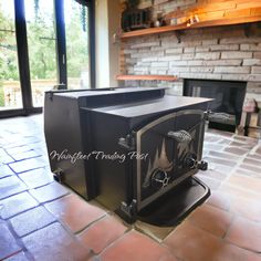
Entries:
<svg viewBox="0 0 261 261">
<path fill-rule="evenodd" d="M 38 1 L 35 2 L 38 3 Z M 0 81 L 19 81 L 14 23 L 13 19 L 6 15 L 1 10 L 0 7 Z M 27 22 L 31 80 L 55 79 L 54 19 L 50 14 L 41 12 L 38 4 L 35 4 L 34 12 L 34 20 Z M 72 15 L 66 21 L 69 77 L 80 77 L 82 71 L 88 70 L 86 23 L 87 9 L 83 9 L 80 4 L 73 4 Z"/>
</svg>

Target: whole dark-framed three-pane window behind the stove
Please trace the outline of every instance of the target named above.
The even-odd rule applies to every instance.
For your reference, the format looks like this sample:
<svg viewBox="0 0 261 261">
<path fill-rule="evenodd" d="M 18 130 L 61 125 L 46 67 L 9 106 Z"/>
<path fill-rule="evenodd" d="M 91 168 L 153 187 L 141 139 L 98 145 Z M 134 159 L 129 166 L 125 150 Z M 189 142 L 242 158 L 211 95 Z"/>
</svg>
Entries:
<svg viewBox="0 0 261 261">
<path fill-rule="evenodd" d="M 94 1 L 0 0 L 0 116 L 40 112 L 56 84 L 94 87 L 93 22 Z"/>
</svg>

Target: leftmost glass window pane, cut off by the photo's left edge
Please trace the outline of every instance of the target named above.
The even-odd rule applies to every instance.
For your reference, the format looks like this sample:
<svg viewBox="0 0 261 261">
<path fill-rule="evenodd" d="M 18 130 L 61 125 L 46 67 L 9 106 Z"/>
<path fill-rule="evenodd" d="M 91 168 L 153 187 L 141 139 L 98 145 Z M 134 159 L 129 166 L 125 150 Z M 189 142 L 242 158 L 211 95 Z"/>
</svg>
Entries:
<svg viewBox="0 0 261 261">
<path fill-rule="evenodd" d="M 0 109 L 21 107 L 14 2 L 0 0 Z"/>
</svg>

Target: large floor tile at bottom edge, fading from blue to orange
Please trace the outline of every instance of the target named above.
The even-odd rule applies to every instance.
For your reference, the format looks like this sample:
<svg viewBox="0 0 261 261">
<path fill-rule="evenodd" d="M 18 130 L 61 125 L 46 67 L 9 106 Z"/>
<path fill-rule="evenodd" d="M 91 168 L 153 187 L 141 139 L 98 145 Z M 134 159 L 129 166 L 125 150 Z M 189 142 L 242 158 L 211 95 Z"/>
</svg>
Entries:
<svg viewBox="0 0 261 261">
<path fill-rule="evenodd" d="M 22 239 L 28 251 L 41 261 L 84 261 L 90 249 L 82 246 L 60 223 L 52 223 Z"/>
</svg>

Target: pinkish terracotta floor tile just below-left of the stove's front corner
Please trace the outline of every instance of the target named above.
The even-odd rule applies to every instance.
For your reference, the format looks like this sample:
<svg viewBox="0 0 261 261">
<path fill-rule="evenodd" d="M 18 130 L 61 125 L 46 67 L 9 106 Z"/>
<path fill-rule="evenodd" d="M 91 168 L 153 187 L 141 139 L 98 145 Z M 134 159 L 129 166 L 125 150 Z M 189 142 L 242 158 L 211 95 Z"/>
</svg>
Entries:
<svg viewBox="0 0 261 261">
<path fill-rule="evenodd" d="M 95 253 L 100 253 L 103 249 L 122 237 L 126 230 L 127 227 L 125 227 L 122 221 L 112 216 L 106 216 L 84 230 L 79 238 Z"/>
</svg>

